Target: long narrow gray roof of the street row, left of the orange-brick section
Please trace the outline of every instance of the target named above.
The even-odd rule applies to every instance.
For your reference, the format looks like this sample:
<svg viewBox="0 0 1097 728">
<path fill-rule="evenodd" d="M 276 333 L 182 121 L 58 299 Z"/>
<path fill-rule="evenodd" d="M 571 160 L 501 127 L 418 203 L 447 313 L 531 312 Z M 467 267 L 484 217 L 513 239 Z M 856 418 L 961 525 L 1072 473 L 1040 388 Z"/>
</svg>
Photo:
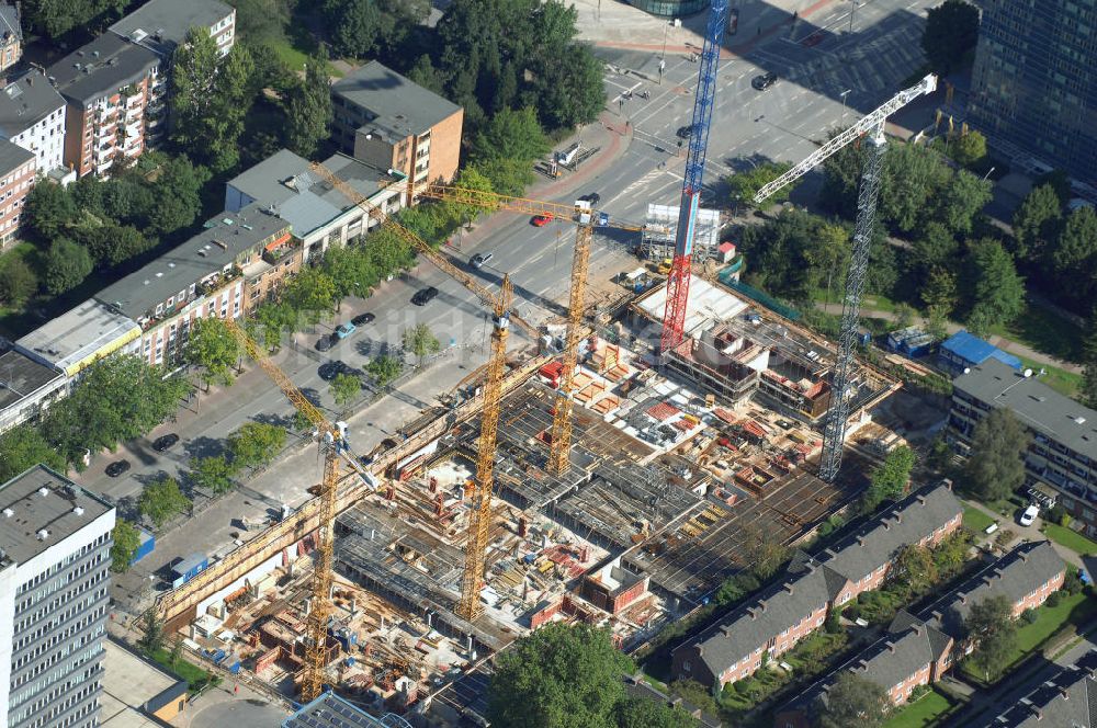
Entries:
<svg viewBox="0 0 1097 728">
<path fill-rule="evenodd" d="M 222 213 L 193 238 L 103 288 L 95 298 L 134 320 L 146 318 L 157 304 L 186 291 L 192 283 L 227 270 L 241 253 L 287 227 L 289 223 L 281 217 L 255 206 L 239 213 Z"/>
</svg>

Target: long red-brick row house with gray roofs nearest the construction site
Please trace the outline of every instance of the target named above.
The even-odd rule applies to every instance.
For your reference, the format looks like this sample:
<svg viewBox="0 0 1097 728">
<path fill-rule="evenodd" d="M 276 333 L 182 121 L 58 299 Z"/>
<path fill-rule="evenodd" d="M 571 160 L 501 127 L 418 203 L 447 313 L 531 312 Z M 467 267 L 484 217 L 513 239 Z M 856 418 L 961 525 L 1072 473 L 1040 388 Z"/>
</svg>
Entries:
<svg viewBox="0 0 1097 728">
<path fill-rule="evenodd" d="M 878 588 L 904 546 L 939 543 L 960 527 L 962 514 L 948 481 L 912 493 L 832 548 L 793 559 L 782 583 L 677 647 L 671 672 L 713 691 L 754 674 L 821 627 L 833 610 Z"/>
</svg>

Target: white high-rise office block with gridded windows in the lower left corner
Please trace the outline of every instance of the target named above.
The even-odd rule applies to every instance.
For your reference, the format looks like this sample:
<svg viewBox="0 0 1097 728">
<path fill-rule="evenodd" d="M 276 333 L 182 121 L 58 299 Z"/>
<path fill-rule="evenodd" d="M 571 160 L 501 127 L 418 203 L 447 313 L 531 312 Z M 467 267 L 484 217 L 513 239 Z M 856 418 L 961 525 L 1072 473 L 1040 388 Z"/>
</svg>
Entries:
<svg viewBox="0 0 1097 728">
<path fill-rule="evenodd" d="M 0 486 L 0 726 L 99 725 L 114 517 L 42 465 Z"/>
</svg>

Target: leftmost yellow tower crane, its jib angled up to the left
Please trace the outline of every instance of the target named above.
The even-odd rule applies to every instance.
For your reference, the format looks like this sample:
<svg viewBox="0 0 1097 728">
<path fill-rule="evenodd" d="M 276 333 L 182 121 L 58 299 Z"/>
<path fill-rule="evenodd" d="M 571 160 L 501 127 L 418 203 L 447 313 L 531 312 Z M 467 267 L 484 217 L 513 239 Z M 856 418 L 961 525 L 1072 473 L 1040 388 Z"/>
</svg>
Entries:
<svg viewBox="0 0 1097 728">
<path fill-rule="evenodd" d="M 308 401 L 301 389 L 280 369 L 251 340 L 251 337 L 231 318 L 222 319 L 248 355 L 267 373 L 294 408 L 316 426 L 324 452 L 324 479 L 320 481 L 319 524 L 316 530 L 316 556 L 313 569 L 313 599 L 308 611 L 308 641 L 305 646 L 305 667 L 301 681 L 301 696 L 304 702 L 319 696 L 324 690 L 324 674 L 327 668 L 328 618 L 331 616 L 331 564 L 336 519 L 336 491 L 339 484 L 339 453 L 346 446 L 339 428 L 331 424 L 324 413 Z"/>
</svg>

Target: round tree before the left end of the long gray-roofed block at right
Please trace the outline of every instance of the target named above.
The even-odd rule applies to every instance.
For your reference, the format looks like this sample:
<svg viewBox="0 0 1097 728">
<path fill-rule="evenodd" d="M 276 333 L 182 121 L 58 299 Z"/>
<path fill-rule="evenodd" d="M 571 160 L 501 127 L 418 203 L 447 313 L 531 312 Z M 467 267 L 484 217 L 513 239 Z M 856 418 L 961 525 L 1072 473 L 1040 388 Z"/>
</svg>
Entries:
<svg viewBox="0 0 1097 728">
<path fill-rule="evenodd" d="M 964 466 L 966 488 L 984 501 L 1008 498 L 1025 482 L 1029 434 L 1007 408 L 992 409 L 975 424 Z"/>
</svg>

